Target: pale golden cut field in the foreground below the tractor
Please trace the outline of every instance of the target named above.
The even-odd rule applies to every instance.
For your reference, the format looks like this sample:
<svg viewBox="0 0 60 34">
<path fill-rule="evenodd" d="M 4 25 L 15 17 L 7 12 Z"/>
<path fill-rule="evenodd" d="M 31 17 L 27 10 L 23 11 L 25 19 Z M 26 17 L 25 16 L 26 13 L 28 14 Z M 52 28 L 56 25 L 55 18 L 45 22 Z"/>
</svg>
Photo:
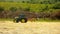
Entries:
<svg viewBox="0 0 60 34">
<path fill-rule="evenodd" d="M 60 22 L 0 21 L 0 34 L 60 34 Z"/>
</svg>

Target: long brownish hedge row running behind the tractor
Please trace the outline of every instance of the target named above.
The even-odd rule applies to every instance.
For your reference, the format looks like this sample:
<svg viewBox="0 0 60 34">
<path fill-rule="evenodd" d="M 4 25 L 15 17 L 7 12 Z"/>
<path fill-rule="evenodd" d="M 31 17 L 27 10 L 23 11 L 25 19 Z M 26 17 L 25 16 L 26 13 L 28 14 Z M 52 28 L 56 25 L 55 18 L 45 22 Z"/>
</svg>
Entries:
<svg viewBox="0 0 60 34">
<path fill-rule="evenodd" d="M 0 18 L 14 18 L 21 13 L 25 14 L 28 18 L 49 18 L 49 19 L 60 19 L 60 9 L 50 10 L 45 12 L 29 12 L 29 11 L 3 11 L 0 12 Z"/>
</svg>

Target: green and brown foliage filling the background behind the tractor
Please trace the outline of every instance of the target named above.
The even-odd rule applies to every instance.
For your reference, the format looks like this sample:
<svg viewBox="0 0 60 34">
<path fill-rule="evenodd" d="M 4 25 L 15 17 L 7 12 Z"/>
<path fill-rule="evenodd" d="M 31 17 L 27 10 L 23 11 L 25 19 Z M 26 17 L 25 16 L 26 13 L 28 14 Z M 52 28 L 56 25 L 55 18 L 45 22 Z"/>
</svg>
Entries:
<svg viewBox="0 0 60 34">
<path fill-rule="evenodd" d="M 0 2 L 0 18 L 14 18 L 20 13 L 27 17 L 60 19 L 60 2 L 43 1 L 35 2 L 34 0 L 22 2 Z M 29 17 L 29 18 L 30 18 Z"/>
</svg>

